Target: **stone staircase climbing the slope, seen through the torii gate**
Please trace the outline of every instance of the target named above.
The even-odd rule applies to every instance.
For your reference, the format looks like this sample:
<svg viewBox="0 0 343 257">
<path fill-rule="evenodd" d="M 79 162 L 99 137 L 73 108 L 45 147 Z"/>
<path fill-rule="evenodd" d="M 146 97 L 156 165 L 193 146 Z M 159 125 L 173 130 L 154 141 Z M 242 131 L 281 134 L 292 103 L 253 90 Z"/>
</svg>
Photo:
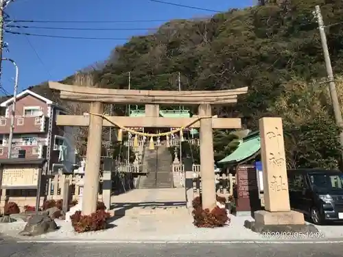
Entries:
<svg viewBox="0 0 343 257">
<path fill-rule="evenodd" d="M 173 188 L 171 154 L 165 145 L 154 150 L 145 149 L 147 176 L 139 180 L 139 188 Z"/>
</svg>

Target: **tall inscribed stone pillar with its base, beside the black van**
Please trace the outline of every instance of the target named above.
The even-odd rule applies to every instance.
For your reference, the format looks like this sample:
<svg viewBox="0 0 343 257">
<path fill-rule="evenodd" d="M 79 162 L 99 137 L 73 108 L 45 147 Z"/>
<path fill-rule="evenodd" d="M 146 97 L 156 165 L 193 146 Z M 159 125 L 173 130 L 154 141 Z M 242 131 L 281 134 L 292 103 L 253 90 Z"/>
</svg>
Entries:
<svg viewBox="0 0 343 257">
<path fill-rule="evenodd" d="M 255 211 L 255 222 L 246 221 L 256 232 L 305 232 L 316 230 L 305 225 L 303 213 L 290 209 L 281 118 L 259 120 L 265 210 Z"/>
</svg>

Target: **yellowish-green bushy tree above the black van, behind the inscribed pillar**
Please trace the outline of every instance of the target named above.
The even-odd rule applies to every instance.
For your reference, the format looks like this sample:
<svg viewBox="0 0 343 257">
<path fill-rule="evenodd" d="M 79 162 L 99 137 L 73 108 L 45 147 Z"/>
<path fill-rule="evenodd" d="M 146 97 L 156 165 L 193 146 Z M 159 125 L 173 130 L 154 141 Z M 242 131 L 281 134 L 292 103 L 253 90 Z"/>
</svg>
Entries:
<svg viewBox="0 0 343 257">
<path fill-rule="evenodd" d="M 332 119 L 326 85 L 301 79 L 284 86 L 270 111 L 282 115 L 290 168 L 338 169 L 340 129 Z"/>
</svg>

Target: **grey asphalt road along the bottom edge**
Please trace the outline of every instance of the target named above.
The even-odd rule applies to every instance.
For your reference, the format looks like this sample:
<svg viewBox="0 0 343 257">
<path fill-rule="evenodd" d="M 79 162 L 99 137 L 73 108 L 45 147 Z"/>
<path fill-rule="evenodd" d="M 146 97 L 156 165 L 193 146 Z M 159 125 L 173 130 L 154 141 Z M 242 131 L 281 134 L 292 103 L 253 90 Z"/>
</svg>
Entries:
<svg viewBox="0 0 343 257">
<path fill-rule="evenodd" d="M 0 257 L 333 257 L 342 244 L 60 244 L 0 241 Z"/>
</svg>

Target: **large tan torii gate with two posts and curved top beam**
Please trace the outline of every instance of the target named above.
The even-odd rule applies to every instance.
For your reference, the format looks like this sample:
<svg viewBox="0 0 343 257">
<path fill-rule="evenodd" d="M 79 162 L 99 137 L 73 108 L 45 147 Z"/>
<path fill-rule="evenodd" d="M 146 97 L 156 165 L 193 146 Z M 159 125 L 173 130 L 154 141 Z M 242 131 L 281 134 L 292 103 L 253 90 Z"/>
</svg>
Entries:
<svg viewBox="0 0 343 257">
<path fill-rule="evenodd" d="M 49 82 L 49 87 L 60 90 L 61 99 L 91 103 L 90 115 L 58 115 L 57 125 L 89 126 L 86 175 L 82 213 L 90 215 L 97 206 L 99 169 L 102 149 L 102 127 L 197 127 L 200 128 L 200 175 L 202 206 L 212 210 L 216 204 L 213 160 L 213 129 L 241 128 L 239 118 L 211 117 L 211 105 L 237 103 L 237 95 L 247 93 L 248 87 L 217 91 L 161 91 L 123 90 L 71 86 Z M 145 117 L 115 117 L 103 115 L 104 103 L 145 104 Z M 159 105 L 198 106 L 198 118 L 159 117 Z"/>
</svg>

